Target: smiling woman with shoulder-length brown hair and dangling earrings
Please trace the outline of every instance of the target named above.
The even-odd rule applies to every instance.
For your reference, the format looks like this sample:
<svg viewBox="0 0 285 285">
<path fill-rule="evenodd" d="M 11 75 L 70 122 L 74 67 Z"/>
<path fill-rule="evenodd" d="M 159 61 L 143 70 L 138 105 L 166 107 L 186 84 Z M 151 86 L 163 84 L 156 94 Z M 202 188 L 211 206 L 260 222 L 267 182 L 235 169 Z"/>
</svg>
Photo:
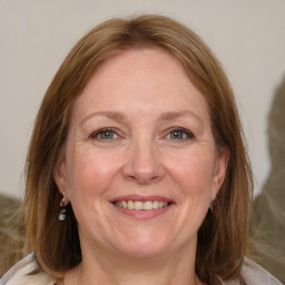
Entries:
<svg viewBox="0 0 285 285">
<path fill-rule="evenodd" d="M 2 284 L 279 284 L 244 258 L 240 132 L 193 31 L 160 16 L 99 24 L 43 98 L 23 208 L 35 254 Z"/>
</svg>

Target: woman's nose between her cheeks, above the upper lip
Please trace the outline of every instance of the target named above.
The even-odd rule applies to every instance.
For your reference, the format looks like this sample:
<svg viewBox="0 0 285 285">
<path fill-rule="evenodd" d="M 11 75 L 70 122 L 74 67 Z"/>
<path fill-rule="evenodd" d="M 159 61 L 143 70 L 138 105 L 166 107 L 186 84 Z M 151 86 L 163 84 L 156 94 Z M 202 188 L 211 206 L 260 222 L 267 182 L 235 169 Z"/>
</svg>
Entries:
<svg viewBox="0 0 285 285">
<path fill-rule="evenodd" d="M 128 158 L 122 167 L 122 173 L 128 180 L 147 185 L 163 178 L 164 167 L 158 147 L 154 141 L 132 142 L 127 153 Z"/>
</svg>

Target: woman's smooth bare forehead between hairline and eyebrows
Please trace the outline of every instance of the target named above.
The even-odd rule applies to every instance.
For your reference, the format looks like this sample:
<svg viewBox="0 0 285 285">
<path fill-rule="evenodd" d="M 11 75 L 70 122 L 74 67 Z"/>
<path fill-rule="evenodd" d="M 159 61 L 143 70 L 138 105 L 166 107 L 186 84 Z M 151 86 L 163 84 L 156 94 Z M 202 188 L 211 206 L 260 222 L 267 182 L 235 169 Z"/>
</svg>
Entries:
<svg viewBox="0 0 285 285">
<path fill-rule="evenodd" d="M 122 51 L 104 62 L 79 96 L 75 112 L 179 111 L 190 108 L 208 117 L 204 96 L 180 63 L 160 48 Z"/>
</svg>

